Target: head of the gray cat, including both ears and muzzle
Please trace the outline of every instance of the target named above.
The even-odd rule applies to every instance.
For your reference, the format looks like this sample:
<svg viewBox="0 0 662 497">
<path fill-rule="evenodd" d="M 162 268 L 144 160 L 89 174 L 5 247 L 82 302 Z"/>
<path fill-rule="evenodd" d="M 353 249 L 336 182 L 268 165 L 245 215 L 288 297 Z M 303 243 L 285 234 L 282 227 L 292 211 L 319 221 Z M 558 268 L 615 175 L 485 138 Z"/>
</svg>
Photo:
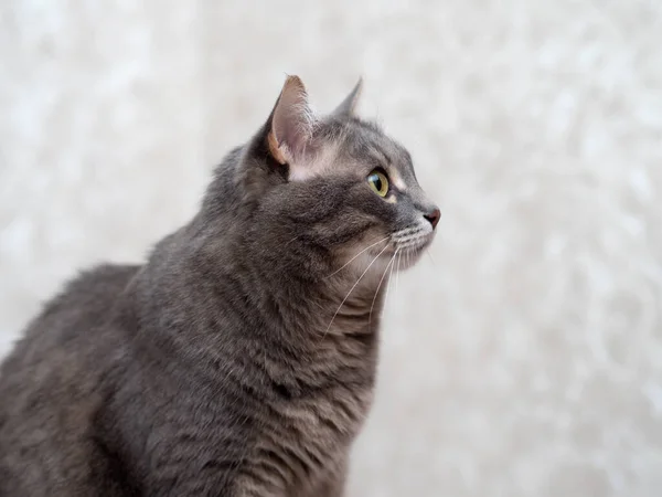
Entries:
<svg viewBox="0 0 662 497">
<path fill-rule="evenodd" d="M 270 116 L 241 158 L 238 183 L 250 205 L 246 236 L 310 274 L 348 267 L 399 268 L 430 244 L 439 209 L 417 182 L 407 150 L 356 117 L 362 83 L 325 116 L 289 76 Z"/>
</svg>

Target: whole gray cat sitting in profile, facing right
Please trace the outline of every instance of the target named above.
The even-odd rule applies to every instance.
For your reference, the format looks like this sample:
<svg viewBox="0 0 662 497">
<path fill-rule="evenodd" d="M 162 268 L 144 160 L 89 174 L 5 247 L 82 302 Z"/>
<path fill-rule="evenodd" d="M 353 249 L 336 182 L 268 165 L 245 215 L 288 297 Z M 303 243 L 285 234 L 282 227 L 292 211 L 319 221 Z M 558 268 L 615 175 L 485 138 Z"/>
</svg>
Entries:
<svg viewBox="0 0 662 497">
<path fill-rule="evenodd" d="M 82 274 L 0 370 L 0 495 L 343 494 L 397 256 L 439 210 L 409 154 L 296 76 L 145 265 Z"/>
</svg>

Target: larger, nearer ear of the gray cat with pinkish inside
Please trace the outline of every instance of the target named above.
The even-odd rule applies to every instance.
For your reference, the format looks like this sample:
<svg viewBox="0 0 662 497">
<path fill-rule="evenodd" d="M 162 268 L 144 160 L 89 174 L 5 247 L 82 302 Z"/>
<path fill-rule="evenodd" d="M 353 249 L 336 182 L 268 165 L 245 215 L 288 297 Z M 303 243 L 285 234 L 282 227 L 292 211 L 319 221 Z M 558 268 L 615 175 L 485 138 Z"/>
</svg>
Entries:
<svg viewBox="0 0 662 497">
<path fill-rule="evenodd" d="M 298 76 L 288 76 L 285 81 L 270 120 L 268 142 L 274 159 L 280 163 L 300 159 L 312 138 L 316 119 Z"/>
</svg>

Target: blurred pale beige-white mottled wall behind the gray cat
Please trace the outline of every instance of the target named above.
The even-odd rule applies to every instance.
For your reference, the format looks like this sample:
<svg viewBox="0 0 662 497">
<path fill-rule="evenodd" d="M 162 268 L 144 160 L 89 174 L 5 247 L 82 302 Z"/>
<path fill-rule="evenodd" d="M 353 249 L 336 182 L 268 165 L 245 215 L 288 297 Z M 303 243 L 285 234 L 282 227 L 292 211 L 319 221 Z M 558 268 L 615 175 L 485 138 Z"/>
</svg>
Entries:
<svg viewBox="0 0 662 497">
<path fill-rule="evenodd" d="M 0 67 L 0 355 L 184 223 L 286 73 L 321 112 L 363 75 L 442 219 L 349 495 L 661 495 L 659 0 L 6 0 Z"/>
</svg>

